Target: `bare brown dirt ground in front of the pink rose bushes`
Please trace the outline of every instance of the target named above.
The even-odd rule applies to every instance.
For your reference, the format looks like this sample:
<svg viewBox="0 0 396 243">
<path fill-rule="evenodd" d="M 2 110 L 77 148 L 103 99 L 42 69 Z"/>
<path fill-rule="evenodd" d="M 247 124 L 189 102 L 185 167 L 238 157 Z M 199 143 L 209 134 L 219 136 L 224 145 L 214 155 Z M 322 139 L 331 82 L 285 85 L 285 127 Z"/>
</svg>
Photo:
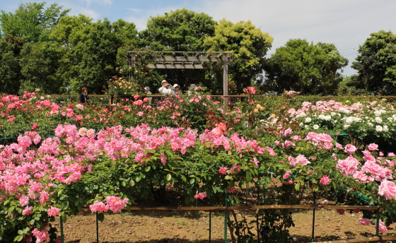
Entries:
<svg viewBox="0 0 396 243">
<path fill-rule="evenodd" d="M 246 212 L 248 213 L 248 212 Z M 315 220 L 315 241 L 353 239 L 375 235 L 373 225 L 360 225 L 361 213 L 345 213 L 318 210 Z M 295 210 L 295 227 L 290 233 L 296 242 L 310 242 L 312 234 L 312 211 Z M 59 223 L 56 223 L 59 230 Z M 64 224 L 65 242 L 88 243 L 96 241 L 95 216 L 78 215 Z M 396 235 L 396 224 L 390 225 L 383 235 Z M 228 234 L 228 239 L 230 235 Z M 139 211 L 105 215 L 99 223 L 100 242 L 209 242 L 209 213 L 200 211 L 198 218 L 194 212 Z M 224 242 L 224 215 L 212 213 L 211 242 Z"/>
</svg>

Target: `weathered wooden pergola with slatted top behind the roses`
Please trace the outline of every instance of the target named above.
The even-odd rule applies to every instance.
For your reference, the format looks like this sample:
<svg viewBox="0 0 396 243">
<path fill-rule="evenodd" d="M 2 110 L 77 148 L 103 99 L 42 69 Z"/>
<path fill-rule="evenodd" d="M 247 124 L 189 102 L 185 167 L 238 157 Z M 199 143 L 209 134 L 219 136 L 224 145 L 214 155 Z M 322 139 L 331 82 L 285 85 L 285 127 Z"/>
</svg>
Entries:
<svg viewBox="0 0 396 243">
<path fill-rule="evenodd" d="M 140 54 L 148 56 L 144 61 L 151 62 L 148 69 L 205 69 L 205 62 L 223 62 L 223 96 L 224 104 L 228 103 L 228 63 L 233 61 L 233 52 L 125 52 L 133 68 Z M 133 76 L 132 76 L 133 78 Z"/>
</svg>

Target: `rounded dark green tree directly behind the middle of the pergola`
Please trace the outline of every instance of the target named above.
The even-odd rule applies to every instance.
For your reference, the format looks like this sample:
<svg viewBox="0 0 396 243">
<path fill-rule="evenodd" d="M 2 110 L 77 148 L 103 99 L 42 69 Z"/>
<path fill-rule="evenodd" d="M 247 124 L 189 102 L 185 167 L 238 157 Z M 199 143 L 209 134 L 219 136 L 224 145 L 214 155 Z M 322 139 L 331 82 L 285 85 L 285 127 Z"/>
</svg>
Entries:
<svg viewBox="0 0 396 243">
<path fill-rule="evenodd" d="M 206 13 L 186 8 L 170 11 L 163 16 L 150 17 L 147 28 L 139 32 L 139 46 L 153 51 L 202 52 L 204 39 L 214 35 L 216 21 Z M 204 70 L 157 70 L 170 83 L 187 87 L 205 78 Z M 155 83 L 158 87 L 161 80 Z"/>
</svg>

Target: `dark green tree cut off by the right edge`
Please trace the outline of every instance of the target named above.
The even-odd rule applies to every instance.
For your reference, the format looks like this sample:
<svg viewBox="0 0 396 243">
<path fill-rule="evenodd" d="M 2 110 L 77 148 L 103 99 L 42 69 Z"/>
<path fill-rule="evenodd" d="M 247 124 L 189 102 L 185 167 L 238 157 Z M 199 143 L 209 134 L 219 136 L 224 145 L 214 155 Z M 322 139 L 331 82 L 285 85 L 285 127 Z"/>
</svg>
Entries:
<svg viewBox="0 0 396 243">
<path fill-rule="evenodd" d="M 385 30 L 371 33 L 358 52 L 352 63 L 358 73 L 351 85 L 375 95 L 396 95 L 396 35 Z"/>
</svg>

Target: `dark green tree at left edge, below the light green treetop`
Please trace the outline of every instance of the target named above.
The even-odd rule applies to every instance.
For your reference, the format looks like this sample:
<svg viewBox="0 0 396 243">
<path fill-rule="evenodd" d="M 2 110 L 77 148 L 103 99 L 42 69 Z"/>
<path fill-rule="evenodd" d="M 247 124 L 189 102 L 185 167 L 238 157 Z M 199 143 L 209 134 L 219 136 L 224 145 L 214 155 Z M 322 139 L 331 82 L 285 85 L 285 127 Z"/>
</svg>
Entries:
<svg viewBox="0 0 396 243">
<path fill-rule="evenodd" d="M 19 53 L 23 47 L 20 37 L 6 35 L 0 40 L 0 90 L 16 95 L 21 84 Z"/>
</svg>

